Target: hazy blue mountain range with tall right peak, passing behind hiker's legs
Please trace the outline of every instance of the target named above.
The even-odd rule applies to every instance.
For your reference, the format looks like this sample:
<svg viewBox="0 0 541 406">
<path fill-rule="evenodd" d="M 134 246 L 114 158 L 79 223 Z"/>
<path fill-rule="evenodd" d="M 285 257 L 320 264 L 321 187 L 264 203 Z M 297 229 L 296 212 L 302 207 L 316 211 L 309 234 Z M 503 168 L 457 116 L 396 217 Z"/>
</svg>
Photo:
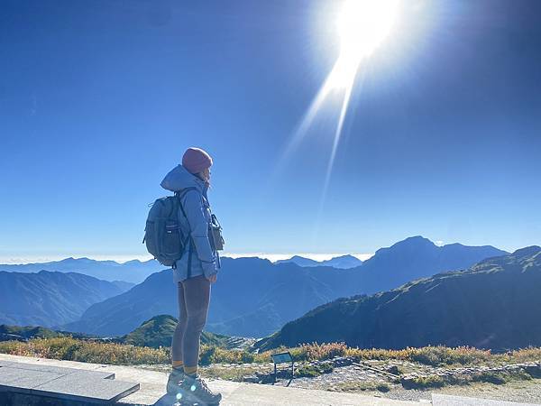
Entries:
<svg viewBox="0 0 541 406">
<path fill-rule="evenodd" d="M 386 291 L 437 272 L 463 269 L 507 254 L 491 246 L 439 247 L 417 236 L 379 250 L 361 266 L 337 270 L 299 267 L 259 258 L 224 258 L 206 328 L 229 336 L 264 337 L 308 310 L 344 296 Z M 99 336 L 121 336 L 157 314 L 178 312 L 170 270 L 156 272 L 130 291 L 92 305 L 60 326 Z"/>
</svg>

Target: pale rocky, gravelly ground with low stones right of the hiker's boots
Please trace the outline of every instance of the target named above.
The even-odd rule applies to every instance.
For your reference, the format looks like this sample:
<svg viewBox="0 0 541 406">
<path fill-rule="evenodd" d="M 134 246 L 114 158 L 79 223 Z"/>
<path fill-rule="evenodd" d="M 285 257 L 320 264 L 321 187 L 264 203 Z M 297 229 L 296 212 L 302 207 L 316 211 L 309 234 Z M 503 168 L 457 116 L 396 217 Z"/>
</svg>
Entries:
<svg viewBox="0 0 541 406">
<path fill-rule="evenodd" d="M 322 370 L 321 364 L 334 364 L 332 372 L 312 377 L 298 377 L 302 371 Z M 144 366 L 142 366 L 144 367 Z M 151 369 L 167 371 L 169 366 L 149 365 Z M 295 364 L 296 377 L 290 379 L 287 365 L 280 366 L 278 380 L 274 382 L 273 364 L 213 364 L 201 368 L 206 378 L 227 379 L 252 383 L 275 384 L 305 389 L 321 389 L 335 392 L 362 392 L 371 396 L 396 400 L 427 401 L 432 392 L 456 394 L 502 401 L 519 401 L 541 404 L 541 362 L 525 364 L 500 364 L 483 366 L 434 367 L 408 361 L 387 360 L 365 361 L 361 364 L 353 359 L 335 358 L 326 362 Z M 323 368 L 325 369 L 325 368 Z M 529 371 L 530 374 L 520 374 Z M 512 373 L 517 378 L 504 382 L 469 382 L 465 377 L 474 374 Z M 532 377 L 532 374 L 534 377 Z M 443 381 L 438 387 L 418 389 L 410 383 L 417 378 L 437 377 Z M 456 378 L 460 379 L 456 379 Z M 467 380 L 466 380 L 467 381 Z"/>
</svg>

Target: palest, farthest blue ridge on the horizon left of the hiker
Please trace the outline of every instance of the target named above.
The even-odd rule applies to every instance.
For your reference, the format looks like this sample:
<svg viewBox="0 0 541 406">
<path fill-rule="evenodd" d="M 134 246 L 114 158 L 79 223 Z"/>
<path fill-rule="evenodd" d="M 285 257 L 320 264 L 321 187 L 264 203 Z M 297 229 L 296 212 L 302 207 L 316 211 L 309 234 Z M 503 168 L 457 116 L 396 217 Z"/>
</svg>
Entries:
<svg viewBox="0 0 541 406">
<path fill-rule="evenodd" d="M 102 281 L 127 281 L 140 283 L 149 275 L 160 271 L 164 266 L 156 260 L 141 262 L 139 260 L 127 263 L 115 261 L 96 261 L 89 258 L 66 258 L 50 263 L 0 264 L 0 271 L 5 272 L 77 272 L 93 276 Z"/>
</svg>

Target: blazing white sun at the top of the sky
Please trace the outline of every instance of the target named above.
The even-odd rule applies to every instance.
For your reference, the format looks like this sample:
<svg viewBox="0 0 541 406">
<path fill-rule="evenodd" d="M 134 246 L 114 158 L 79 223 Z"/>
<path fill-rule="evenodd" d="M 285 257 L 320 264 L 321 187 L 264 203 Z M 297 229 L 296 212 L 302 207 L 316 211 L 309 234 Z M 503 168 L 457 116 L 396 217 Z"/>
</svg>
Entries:
<svg viewBox="0 0 541 406">
<path fill-rule="evenodd" d="M 390 33 L 399 0 L 346 0 L 336 22 L 340 56 L 332 73 L 333 88 L 352 86 L 363 58 L 371 55 Z"/>
</svg>

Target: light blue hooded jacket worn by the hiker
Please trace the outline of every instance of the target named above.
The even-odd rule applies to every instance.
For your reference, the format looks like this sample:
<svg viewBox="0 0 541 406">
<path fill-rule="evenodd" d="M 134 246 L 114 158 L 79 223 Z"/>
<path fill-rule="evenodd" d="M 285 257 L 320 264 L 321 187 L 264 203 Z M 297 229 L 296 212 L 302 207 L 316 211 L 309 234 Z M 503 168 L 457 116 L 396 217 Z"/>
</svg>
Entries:
<svg viewBox="0 0 541 406">
<path fill-rule="evenodd" d="M 204 274 L 206 278 L 209 278 L 218 272 L 219 258 L 208 239 L 208 226 L 211 222 L 210 205 L 206 198 L 208 185 L 182 165 L 173 168 L 161 180 L 160 185 L 163 189 L 174 192 L 182 192 L 182 189 L 186 188 L 196 188 L 196 190 L 188 190 L 180 200 L 186 217 L 179 208 L 179 224 L 183 235 L 191 235 L 193 241 L 189 277 Z M 173 269 L 175 283 L 188 279 L 189 246 L 186 246 L 184 254 L 177 260 L 176 268 Z"/>
</svg>

